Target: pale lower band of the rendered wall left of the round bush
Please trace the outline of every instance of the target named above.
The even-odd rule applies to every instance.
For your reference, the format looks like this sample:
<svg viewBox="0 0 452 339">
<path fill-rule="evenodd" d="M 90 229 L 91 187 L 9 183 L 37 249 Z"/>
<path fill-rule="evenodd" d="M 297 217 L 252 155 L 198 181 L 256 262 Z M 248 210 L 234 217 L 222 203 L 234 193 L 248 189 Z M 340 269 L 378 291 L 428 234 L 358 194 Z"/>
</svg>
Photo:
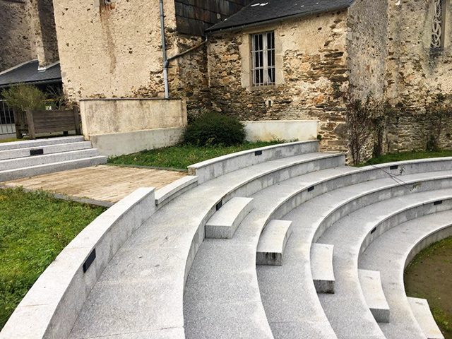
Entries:
<svg viewBox="0 0 452 339">
<path fill-rule="evenodd" d="M 148 129 L 90 135 L 90 140 L 93 147 L 99 150 L 100 155 L 114 156 L 176 145 L 181 141 L 182 133 L 184 133 L 184 127 Z"/>
</svg>

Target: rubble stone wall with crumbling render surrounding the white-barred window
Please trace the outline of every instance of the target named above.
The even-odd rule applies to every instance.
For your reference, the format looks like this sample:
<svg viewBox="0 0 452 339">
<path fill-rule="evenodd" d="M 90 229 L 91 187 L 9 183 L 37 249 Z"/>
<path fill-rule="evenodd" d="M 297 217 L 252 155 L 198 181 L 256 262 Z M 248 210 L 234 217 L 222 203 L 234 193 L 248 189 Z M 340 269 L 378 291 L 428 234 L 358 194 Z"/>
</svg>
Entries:
<svg viewBox="0 0 452 339">
<path fill-rule="evenodd" d="M 247 40 L 269 30 L 275 31 L 277 85 L 253 88 L 243 79 L 251 67 Z M 242 120 L 319 119 L 323 149 L 346 150 L 345 109 L 337 96 L 348 88 L 346 36 L 347 11 L 214 35 L 208 52 L 213 109 Z"/>
</svg>

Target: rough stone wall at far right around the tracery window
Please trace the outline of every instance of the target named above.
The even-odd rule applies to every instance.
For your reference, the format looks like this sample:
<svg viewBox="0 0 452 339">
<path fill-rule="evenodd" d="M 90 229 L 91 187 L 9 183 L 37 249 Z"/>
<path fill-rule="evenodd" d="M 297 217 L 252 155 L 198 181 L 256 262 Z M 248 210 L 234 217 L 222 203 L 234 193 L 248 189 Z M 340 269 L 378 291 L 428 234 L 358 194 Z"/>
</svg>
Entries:
<svg viewBox="0 0 452 339">
<path fill-rule="evenodd" d="M 386 97 L 398 107 L 390 133 L 391 150 L 424 149 L 429 123 L 425 107 L 437 93 L 452 93 L 452 6 L 446 1 L 444 48 L 432 50 L 434 1 L 390 1 Z M 451 148 L 451 119 L 440 145 Z"/>
</svg>

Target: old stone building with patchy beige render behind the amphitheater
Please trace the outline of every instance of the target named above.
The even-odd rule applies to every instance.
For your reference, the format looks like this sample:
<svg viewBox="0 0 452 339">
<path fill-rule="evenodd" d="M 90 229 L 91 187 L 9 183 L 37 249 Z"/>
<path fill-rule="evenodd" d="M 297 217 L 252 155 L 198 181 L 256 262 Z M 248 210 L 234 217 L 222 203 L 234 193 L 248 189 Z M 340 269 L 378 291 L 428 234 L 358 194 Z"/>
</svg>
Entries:
<svg viewBox="0 0 452 339">
<path fill-rule="evenodd" d="M 51 8 L 46 1 L 37 4 Z M 0 0 L 18 8 L 8 14 L 18 18 L 16 27 L 3 29 L 25 32 L 28 11 L 40 13 L 35 18 L 49 13 L 31 4 Z M 379 139 L 383 150 L 425 148 L 433 129 L 441 147 L 452 147 L 450 118 L 438 129 L 426 109 L 452 90 L 450 0 L 53 0 L 53 6 L 72 101 L 168 96 L 183 100 L 189 120 L 207 110 L 244 121 L 318 120 L 323 149 L 343 151 L 350 148 L 350 100 L 371 95 L 392 107 Z M 37 25 L 30 27 L 23 36 L 39 36 Z M 54 51 L 55 40 L 44 38 L 50 31 L 41 25 L 40 43 L 6 40 L 11 51 L 46 57 Z M 364 156 L 374 142 L 369 138 Z"/>
</svg>

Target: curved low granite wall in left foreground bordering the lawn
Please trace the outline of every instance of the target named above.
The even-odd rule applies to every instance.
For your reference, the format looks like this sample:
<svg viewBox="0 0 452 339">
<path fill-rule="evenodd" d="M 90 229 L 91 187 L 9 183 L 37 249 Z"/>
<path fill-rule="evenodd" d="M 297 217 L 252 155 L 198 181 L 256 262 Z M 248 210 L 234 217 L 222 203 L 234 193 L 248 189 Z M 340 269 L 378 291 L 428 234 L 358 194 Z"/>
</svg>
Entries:
<svg viewBox="0 0 452 339">
<path fill-rule="evenodd" d="M 141 188 L 97 217 L 40 275 L 0 339 L 68 338 L 104 268 L 155 210 L 154 189 Z"/>
</svg>

